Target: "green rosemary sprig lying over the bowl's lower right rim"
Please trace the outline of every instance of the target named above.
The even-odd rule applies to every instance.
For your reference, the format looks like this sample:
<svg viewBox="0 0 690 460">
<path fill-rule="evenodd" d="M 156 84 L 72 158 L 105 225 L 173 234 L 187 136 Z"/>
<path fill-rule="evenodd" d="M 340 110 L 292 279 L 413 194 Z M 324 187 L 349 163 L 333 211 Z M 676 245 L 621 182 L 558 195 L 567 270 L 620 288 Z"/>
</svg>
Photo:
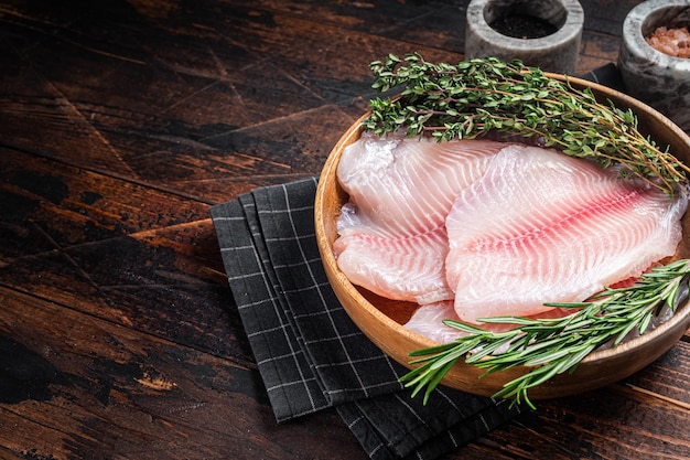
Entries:
<svg viewBox="0 0 690 460">
<path fill-rule="evenodd" d="M 637 330 L 643 334 L 654 315 L 664 307 L 675 311 L 688 298 L 690 260 L 677 260 L 642 276 L 634 286 L 605 289 L 581 303 L 547 303 L 551 307 L 573 308 L 573 313 L 558 319 L 527 319 L 514 317 L 488 318 L 486 323 L 515 323 L 505 332 L 490 332 L 461 321 L 445 320 L 449 327 L 468 335 L 434 347 L 417 350 L 410 356 L 422 356 L 410 362 L 421 364 L 403 375 L 406 387 L 413 386 L 412 396 L 425 389 L 424 403 L 443 376 L 460 359 L 479 368 L 486 375 L 515 366 L 531 371 L 508 382 L 495 397 L 525 402 L 529 388 L 540 385 L 563 372 L 573 372 L 580 362 L 603 344 L 615 346 Z"/>
</svg>

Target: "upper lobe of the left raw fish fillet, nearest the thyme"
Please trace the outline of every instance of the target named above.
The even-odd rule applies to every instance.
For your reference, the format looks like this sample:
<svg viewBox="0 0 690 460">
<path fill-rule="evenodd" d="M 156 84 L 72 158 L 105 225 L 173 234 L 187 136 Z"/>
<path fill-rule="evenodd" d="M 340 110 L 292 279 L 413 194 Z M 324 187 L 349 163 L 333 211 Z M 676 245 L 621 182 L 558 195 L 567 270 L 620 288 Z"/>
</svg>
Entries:
<svg viewBox="0 0 690 460">
<path fill-rule="evenodd" d="M 373 133 L 348 146 L 337 176 L 349 194 L 341 235 L 401 237 L 442 226 L 457 193 L 478 178 L 506 145 L 490 140 L 436 142 Z"/>
</svg>

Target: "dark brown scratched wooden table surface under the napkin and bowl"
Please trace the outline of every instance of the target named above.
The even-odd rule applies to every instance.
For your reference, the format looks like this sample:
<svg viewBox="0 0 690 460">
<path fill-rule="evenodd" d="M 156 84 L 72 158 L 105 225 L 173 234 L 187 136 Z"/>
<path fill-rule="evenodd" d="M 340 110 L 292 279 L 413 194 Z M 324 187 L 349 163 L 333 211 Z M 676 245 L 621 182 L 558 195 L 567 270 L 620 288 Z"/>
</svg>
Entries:
<svg viewBox="0 0 690 460">
<path fill-rule="evenodd" d="M 369 62 L 461 60 L 466 3 L 1 0 L 0 458 L 364 459 L 276 424 L 208 208 L 317 174 Z M 636 3 L 582 1 L 578 72 Z M 688 458 L 689 340 L 449 458 Z"/>
</svg>

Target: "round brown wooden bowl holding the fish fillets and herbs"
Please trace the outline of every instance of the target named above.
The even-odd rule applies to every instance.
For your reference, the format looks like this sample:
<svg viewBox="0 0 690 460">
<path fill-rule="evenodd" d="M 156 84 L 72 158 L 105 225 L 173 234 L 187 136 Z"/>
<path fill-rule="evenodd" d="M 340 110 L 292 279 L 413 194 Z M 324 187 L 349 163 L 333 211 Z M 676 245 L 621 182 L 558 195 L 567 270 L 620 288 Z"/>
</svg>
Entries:
<svg viewBox="0 0 690 460">
<path fill-rule="evenodd" d="M 560 75 L 550 75 L 563 79 Z M 574 87 L 592 88 L 601 100 L 611 99 L 619 108 L 630 108 L 637 115 L 639 129 L 648 133 L 659 146 L 671 146 L 671 152 L 686 163 L 690 163 L 690 138 L 661 114 L 622 93 L 602 85 L 570 78 Z M 434 342 L 411 332 L 402 324 L 411 315 L 414 306 L 382 299 L 349 282 L 338 269 L 333 256 L 333 242 L 337 237 L 336 220 L 341 206 L 347 202 L 347 194 L 336 180 L 336 169 L 343 150 L 359 138 L 362 119 L 357 120 L 333 148 L 323 168 L 315 199 L 315 225 L 319 249 L 323 265 L 343 307 L 357 327 L 385 353 L 409 367 L 408 353 L 413 350 L 435 345 Z M 683 235 L 690 235 L 690 213 L 682 220 Z M 690 238 L 680 243 L 676 258 L 690 256 Z M 532 399 L 543 399 L 573 395 L 617 382 L 645 367 L 670 349 L 690 325 L 690 308 L 683 306 L 676 314 L 654 331 L 624 344 L 591 353 L 573 374 L 561 374 L 536 388 L 530 389 Z M 517 378 L 529 370 L 513 368 L 493 373 L 479 378 L 482 370 L 457 362 L 445 375 L 442 383 L 468 393 L 490 396 L 504 384 Z"/>
</svg>

